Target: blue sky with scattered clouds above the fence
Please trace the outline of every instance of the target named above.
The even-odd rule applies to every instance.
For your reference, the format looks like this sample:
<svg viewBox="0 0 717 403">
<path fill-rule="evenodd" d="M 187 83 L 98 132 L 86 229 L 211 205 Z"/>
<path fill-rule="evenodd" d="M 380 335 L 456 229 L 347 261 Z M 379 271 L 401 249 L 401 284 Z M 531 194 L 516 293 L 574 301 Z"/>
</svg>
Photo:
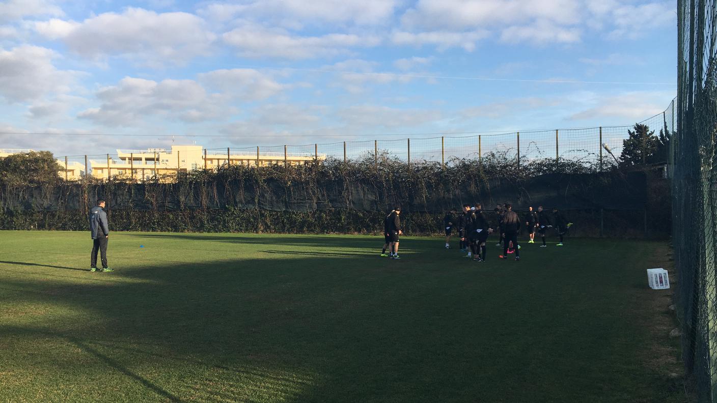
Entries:
<svg viewBox="0 0 717 403">
<path fill-rule="evenodd" d="M 0 1 L 0 148 L 629 125 L 676 95 L 676 24 L 650 0 Z"/>
</svg>

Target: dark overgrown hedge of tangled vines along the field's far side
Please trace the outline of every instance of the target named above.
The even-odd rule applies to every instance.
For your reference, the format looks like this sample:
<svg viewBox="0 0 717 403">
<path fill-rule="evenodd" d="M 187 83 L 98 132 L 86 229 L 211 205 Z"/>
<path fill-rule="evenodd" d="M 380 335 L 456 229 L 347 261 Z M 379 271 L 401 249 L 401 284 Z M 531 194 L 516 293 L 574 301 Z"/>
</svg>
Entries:
<svg viewBox="0 0 717 403">
<path fill-rule="evenodd" d="M 85 229 L 87 210 L 103 197 L 114 229 L 121 230 L 371 233 L 380 232 L 384 212 L 399 204 L 407 213 L 402 216 L 407 229 L 433 234 L 440 232 L 443 213 L 463 203 L 481 201 L 490 209 L 488 201 L 528 200 L 552 207 L 555 204 L 526 189 L 541 175 L 553 174 L 551 181 L 571 183 L 566 191 L 577 194 L 607 186 L 618 177 L 612 175 L 617 165 L 604 159 L 599 171 L 597 156 L 587 151 L 582 155 L 577 161 L 522 157 L 518 163 L 511 151 L 505 151 L 485 154 L 480 161 L 451 158 L 442 166 L 431 161 L 409 165 L 384 152 L 379 158 L 371 154 L 348 163 L 330 158 L 300 166 L 223 166 L 137 183 L 91 177 L 67 183 L 45 170 L 40 171 L 44 176 L 26 174 L 22 181 L 16 175 L 3 182 L 0 228 Z M 49 166 L 48 158 L 54 162 L 49 153 L 42 158 L 34 166 Z M 584 217 L 579 232 L 599 234 L 599 209 L 575 204 L 565 208 Z"/>
</svg>

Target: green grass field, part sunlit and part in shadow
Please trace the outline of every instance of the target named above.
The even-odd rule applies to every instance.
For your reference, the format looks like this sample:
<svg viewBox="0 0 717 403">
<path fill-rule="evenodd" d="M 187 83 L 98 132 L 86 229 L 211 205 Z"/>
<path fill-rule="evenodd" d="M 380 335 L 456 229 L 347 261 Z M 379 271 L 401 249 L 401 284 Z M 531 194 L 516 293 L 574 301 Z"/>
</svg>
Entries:
<svg viewBox="0 0 717 403">
<path fill-rule="evenodd" d="M 88 232 L 0 232 L 0 401 L 685 400 L 664 242 L 382 242 L 113 232 L 93 273 Z"/>
</svg>

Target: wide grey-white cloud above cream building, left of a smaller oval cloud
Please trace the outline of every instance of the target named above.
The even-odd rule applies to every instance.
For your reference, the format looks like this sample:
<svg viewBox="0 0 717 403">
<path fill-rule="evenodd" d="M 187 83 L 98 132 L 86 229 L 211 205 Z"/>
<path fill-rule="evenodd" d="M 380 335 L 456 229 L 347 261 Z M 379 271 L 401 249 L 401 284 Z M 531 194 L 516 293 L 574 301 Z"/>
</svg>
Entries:
<svg viewBox="0 0 717 403">
<path fill-rule="evenodd" d="M 110 126 L 138 125 L 147 118 L 199 122 L 231 113 L 224 96 L 206 93 L 194 80 L 156 82 L 125 77 L 118 85 L 101 88 L 97 98 L 99 108 L 89 108 L 78 116 Z"/>
</svg>

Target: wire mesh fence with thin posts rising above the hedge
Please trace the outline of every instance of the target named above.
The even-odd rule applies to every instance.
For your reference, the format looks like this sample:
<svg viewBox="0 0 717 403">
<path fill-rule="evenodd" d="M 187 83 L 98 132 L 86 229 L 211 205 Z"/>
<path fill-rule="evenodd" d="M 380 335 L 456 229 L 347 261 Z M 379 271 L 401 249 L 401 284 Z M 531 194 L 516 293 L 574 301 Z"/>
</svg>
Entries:
<svg viewBox="0 0 717 403">
<path fill-rule="evenodd" d="M 665 135 L 667 141 L 675 131 L 675 101 L 665 112 L 635 125 L 644 125 L 648 134 Z M 400 140 L 341 141 L 280 146 L 251 146 L 203 148 L 202 146 L 172 146 L 170 149 L 117 150 L 116 153 L 60 156 L 60 176 L 68 181 L 91 176 L 95 179 L 142 181 L 160 179 L 171 181 L 176 174 L 197 169 L 217 169 L 227 165 L 267 166 L 323 163 L 328 159 L 344 162 L 379 163 L 403 161 L 439 163 L 448 166 L 459 161 L 482 163 L 485 158 L 500 161 L 531 161 L 556 163 L 569 161 L 589 166 L 596 171 L 612 169 L 623 155 L 625 142 L 635 125 L 571 128 L 551 131 L 525 131 L 473 136 L 436 136 L 432 138 L 404 138 Z M 648 136 L 643 136 L 648 138 Z M 654 156 L 648 143 L 638 144 L 637 153 L 650 156 L 642 165 L 652 163 L 672 166 L 672 156 Z M 639 159 L 639 157 L 638 157 Z"/>
</svg>

